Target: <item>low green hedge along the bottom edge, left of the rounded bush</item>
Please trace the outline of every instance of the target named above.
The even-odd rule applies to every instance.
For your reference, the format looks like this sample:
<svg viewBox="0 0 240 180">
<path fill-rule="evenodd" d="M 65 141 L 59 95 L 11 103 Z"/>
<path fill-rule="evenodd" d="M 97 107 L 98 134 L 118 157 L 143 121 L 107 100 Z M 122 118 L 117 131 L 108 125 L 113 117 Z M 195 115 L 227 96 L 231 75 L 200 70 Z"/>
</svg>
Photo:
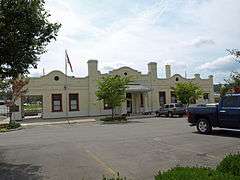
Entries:
<svg viewBox="0 0 240 180">
<path fill-rule="evenodd" d="M 210 168 L 176 167 L 163 173 L 159 172 L 155 180 L 240 180 L 240 177 Z"/>
</svg>

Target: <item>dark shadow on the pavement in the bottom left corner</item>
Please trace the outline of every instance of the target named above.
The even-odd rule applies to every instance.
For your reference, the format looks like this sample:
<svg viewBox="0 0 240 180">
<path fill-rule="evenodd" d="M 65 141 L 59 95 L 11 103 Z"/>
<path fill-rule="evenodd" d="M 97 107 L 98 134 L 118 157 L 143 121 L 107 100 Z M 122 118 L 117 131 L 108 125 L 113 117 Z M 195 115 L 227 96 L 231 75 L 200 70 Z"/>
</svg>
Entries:
<svg viewBox="0 0 240 180">
<path fill-rule="evenodd" d="M 8 164 L 0 163 L 1 180 L 41 180 L 40 166 L 30 164 Z"/>
</svg>

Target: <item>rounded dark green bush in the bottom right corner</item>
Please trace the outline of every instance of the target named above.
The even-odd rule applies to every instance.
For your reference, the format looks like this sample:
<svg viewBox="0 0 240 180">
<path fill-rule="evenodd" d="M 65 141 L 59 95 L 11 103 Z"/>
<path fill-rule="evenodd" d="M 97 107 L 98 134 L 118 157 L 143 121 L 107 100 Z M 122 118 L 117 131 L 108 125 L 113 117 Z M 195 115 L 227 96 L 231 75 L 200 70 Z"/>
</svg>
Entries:
<svg viewBox="0 0 240 180">
<path fill-rule="evenodd" d="M 226 156 L 217 166 L 217 171 L 240 176 L 240 154 Z"/>
</svg>

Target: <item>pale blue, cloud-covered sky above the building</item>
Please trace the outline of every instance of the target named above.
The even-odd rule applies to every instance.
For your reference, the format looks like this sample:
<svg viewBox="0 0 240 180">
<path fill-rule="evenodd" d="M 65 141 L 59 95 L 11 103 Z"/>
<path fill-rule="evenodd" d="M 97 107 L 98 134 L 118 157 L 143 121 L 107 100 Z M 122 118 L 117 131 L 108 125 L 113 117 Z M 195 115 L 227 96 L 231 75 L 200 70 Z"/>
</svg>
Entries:
<svg viewBox="0 0 240 180">
<path fill-rule="evenodd" d="M 172 73 L 220 83 L 240 63 L 226 49 L 240 49 L 240 0 L 46 0 L 50 21 L 62 28 L 47 46 L 31 76 L 64 72 L 64 51 L 71 76 L 87 76 L 87 61 L 98 60 L 102 73 L 130 66 L 147 73 L 149 62 Z"/>
</svg>

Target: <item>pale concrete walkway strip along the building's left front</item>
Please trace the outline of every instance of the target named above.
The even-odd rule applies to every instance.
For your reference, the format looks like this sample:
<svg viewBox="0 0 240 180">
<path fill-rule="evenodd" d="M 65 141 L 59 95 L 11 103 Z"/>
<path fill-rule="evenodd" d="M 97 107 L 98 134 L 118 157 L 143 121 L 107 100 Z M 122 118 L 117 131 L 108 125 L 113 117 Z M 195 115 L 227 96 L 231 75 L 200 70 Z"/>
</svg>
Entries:
<svg viewBox="0 0 240 180">
<path fill-rule="evenodd" d="M 73 123 L 87 123 L 87 122 L 96 122 L 95 119 L 74 119 L 74 120 L 60 120 L 60 121 L 53 121 L 51 120 L 46 121 L 46 122 L 23 122 L 21 125 L 23 127 L 28 127 L 28 126 L 44 126 L 44 125 L 57 125 L 57 124 L 73 124 Z"/>
</svg>

